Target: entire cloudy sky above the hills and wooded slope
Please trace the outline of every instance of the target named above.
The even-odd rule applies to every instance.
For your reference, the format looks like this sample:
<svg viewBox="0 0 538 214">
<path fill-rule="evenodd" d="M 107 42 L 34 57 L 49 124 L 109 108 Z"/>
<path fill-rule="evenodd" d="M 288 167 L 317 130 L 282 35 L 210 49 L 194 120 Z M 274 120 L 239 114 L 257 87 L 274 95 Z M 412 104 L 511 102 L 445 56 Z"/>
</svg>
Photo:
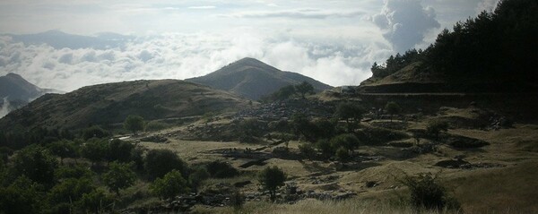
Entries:
<svg viewBox="0 0 538 214">
<path fill-rule="evenodd" d="M 333 86 L 359 85 L 374 62 L 428 47 L 438 32 L 497 1 L 4 0 L 0 75 L 71 91 L 111 81 L 183 80 L 255 57 Z M 117 45 L 30 44 L 11 35 L 48 30 L 100 35 Z"/>
</svg>

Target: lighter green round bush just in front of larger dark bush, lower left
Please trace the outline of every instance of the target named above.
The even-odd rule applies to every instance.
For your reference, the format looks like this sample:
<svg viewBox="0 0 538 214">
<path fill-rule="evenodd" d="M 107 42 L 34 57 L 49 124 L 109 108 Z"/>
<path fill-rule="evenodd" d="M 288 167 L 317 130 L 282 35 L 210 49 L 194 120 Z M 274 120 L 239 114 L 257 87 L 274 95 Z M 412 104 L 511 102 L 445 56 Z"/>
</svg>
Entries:
<svg viewBox="0 0 538 214">
<path fill-rule="evenodd" d="M 162 178 L 157 178 L 150 184 L 152 193 L 158 195 L 161 199 L 173 199 L 180 193 L 188 193 L 190 190 L 187 186 L 187 181 L 181 173 L 174 169 L 164 175 Z"/>
</svg>

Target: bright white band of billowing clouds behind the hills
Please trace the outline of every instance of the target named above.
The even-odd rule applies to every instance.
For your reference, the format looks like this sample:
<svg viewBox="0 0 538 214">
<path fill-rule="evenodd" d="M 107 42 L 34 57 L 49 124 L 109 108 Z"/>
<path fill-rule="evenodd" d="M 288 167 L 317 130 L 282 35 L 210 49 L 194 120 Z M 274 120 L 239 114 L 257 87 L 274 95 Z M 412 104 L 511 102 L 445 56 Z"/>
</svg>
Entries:
<svg viewBox="0 0 538 214">
<path fill-rule="evenodd" d="M 391 54 L 382 44 L 311 42 L 248 30 L 228 33 L 139 37 L 122 47 L 55 48 L 0 38 L 0 74 L 18 73 L 41 88 L 71 91 L 82 86 L 140 79 L 187 79 L 212 73 L 243 57 L 330 85 L 357 85 L 369 67 Z"/>
</svg>

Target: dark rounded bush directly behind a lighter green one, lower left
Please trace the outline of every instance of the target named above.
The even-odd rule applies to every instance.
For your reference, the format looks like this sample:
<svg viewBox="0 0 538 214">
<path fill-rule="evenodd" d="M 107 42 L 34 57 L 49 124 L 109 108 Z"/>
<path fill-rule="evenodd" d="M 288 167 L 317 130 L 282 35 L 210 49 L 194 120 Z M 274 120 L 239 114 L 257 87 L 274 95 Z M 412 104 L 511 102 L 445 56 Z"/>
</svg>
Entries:
<svg viewBox="0 0 538 214">
<path fill-rule="evenodd" d="M 150 150 L 144 158 L 143 167 L 150 180 L 162 177 L 174 169 L 183 175 L 187 174 L 187 165 L 171 150 Z"/>
</svg>

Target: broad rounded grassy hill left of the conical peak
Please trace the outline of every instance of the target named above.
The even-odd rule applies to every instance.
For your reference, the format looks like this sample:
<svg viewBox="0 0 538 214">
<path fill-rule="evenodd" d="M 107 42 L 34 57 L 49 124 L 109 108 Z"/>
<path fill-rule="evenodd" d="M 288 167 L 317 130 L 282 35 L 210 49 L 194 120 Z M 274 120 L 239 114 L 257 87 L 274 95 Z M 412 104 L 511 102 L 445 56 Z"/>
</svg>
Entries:
<svg viewBox="0 0 538 214">
<path fill-rule="evenodd" d="M 17 125 L 82 128 L 121 123 L 129 115 L 148 120 L 199 116 L 244 105 L 246 100 L 228 92 L 187 81 L 124 81 L 44 95 L 0 119 L 0 130 Z"/>
</svg>

